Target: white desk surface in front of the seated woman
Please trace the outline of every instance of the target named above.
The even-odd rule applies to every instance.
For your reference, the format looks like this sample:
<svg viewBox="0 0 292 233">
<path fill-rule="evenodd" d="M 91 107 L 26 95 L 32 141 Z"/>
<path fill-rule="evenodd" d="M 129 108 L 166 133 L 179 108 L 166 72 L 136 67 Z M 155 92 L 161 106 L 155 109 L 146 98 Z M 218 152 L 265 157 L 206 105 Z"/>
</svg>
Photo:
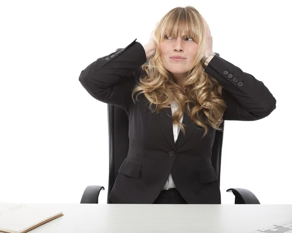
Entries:
<svg viewBox="0 0 292 233">
<path fill-rule="evenodd" d="M 64 214 L 29 233 L 249 233 L 292 219 L 292 205 L 25 204 Z"/>
</svg>

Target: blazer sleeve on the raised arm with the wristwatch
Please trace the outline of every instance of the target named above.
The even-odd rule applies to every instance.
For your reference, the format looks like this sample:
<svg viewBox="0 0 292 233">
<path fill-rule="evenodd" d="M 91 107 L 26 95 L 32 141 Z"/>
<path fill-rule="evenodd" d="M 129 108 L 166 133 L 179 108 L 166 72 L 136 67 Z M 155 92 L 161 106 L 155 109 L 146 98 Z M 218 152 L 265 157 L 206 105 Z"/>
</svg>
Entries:
<svg viewBox="0 0 292 233">
<path fill-rule="evenodd" d="M 255 121 L 276 108 L 276 99 L 252 74 L 215 55 L 204 70 L 222 85 L 227 108 L 223 120 Z"/>
</svg>

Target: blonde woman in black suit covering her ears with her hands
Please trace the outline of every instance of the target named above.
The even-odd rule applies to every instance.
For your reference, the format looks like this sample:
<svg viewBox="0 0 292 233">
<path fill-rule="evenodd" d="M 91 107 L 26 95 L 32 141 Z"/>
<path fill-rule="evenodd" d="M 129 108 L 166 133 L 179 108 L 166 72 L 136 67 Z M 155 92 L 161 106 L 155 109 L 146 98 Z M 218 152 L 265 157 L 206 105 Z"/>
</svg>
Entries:
<svg viewBox="0 0 292 233">
<path fill-rule="evenodd" d="M 276 108 L 261 81 L 213 53 L 209 27 L 191 6 L 170 10 L 146 45 L 134 40 L 98 58 L 79 81 L 129 117 L 112 203 L 220 204 L 215 130 L 223 120 L 255 121 Z"/>
</svg>

